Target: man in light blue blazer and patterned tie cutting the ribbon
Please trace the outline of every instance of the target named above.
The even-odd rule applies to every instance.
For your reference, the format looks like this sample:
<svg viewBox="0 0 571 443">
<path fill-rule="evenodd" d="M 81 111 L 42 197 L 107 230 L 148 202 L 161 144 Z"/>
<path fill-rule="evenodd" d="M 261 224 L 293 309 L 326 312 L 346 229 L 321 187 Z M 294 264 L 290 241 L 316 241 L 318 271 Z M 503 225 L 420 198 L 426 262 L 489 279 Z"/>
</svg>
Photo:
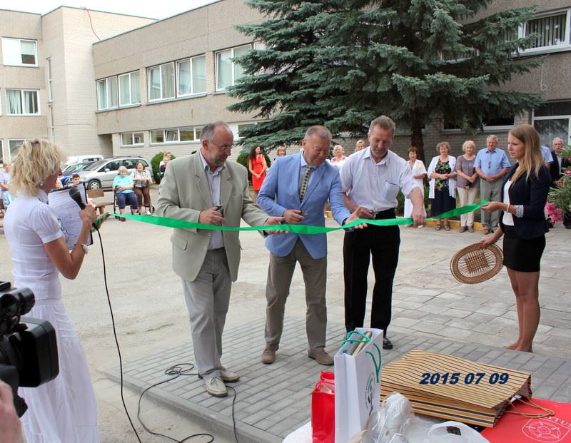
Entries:
<svg viewBox="0 0 571 443">
<path fill-rule="evenodd" d="M 331 146 L 329 130 L 324 126 L 311 126 L 301 145 L 302 152 L 276 158 L 263 182 L 258 204 L 268 215 L 283 216 L 285 223 L 323 226 L 323 207 L 329 199 L 337 223 L 343 225 L 357 219 L 360 208 L 351 214 L 345 207 L 339 172 L 325 162 Z M 305 282 L 308 356 L 321 365 L 333 365 L 333 358 L 325 352 L 325 234 L 271 235 L 266 238 L 266 247 L 270 250 L 270 265 L 266 284 L 266 349 L 262 362 L 270 364 L 276 360 L 283 331 L 285 300 L 289 295 L 295 263 L 299 262 Z"/>
</svg>

